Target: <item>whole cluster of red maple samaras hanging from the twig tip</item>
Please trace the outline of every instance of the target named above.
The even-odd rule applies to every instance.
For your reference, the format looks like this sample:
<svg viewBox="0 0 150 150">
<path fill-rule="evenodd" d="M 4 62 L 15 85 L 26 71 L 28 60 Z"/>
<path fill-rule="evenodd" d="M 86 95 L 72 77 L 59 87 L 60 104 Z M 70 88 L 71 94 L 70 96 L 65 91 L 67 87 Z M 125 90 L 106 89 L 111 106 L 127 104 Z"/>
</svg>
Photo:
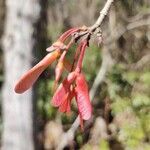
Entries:
<svg viewBox="0 0 150 150">
<path fill-rule="evenodd" d="M 78 112 L 80 116 L 80 124 L 83 125 L 83 120 L 88 120 L 92 114 L 92 106 L 89 99 L 88 85 L 84 74 L 82 73 L 82 62 L 86 47 L 89 45 L 91 33 L 88 28 L 71 28 L 63 33 L 52 46 L 47 48 L 47 54 L 37 65 L 30 69 L 21 77 L 15 86 L 16 93 L 23 93 L 28 90 L 40 74 L 55 60 L 58 60 L 55 69 L 55 87 L 64 71 L 64 68 L 69 71 L 68 76 L 56 88 L 52 98 L 52 105 L 59 107 L 61 112 L 70 112 L 71 100 L 75 97 Z M 79 41 L 76 49 L 73 62 L 66 61 L 66 54 L 69 48 Z"/>
</svg>

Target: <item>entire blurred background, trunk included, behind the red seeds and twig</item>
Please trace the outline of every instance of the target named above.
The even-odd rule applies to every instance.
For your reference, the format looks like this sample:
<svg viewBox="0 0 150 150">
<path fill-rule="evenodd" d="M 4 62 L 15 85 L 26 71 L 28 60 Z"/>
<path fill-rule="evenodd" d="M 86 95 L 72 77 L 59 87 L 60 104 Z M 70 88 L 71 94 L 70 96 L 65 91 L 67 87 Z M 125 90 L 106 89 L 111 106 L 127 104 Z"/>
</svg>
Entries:
<svg viewBox="0 0 150 150">
<path fill-rule="evenodd" d="M 102 46 L 91 40 L 83 70 L 93 117 L 84 132 L 72 131 L 74 103 L 70 115 L 50 105 L 55 64 L 33 89 L 13 91 L 61 33 L 94 24 L 105 2 L 0 0 L 0 149 L 150 150 L 149 0 L 116 0 L 102 25 Z"/>
</svg>

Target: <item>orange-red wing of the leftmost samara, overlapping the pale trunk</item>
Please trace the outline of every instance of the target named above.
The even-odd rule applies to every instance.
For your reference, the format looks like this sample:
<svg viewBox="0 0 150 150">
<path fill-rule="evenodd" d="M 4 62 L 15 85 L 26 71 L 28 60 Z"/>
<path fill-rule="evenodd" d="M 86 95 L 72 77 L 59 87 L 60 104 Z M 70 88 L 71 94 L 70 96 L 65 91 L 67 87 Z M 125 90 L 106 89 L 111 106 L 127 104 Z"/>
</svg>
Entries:
<svg viewBox="0 0 150 150">
<path fill-rule="evenodd" d="M 40 74 L 50 65 L 58 56 L 55 52 L 46 55 L 36 66 L 31 68 L 26 74 L 24 74 L 21 79 L 17 82 L 15 86 L 16 93 L 23 93 L 28 90 L 38 79 Z"/>
</svg>

